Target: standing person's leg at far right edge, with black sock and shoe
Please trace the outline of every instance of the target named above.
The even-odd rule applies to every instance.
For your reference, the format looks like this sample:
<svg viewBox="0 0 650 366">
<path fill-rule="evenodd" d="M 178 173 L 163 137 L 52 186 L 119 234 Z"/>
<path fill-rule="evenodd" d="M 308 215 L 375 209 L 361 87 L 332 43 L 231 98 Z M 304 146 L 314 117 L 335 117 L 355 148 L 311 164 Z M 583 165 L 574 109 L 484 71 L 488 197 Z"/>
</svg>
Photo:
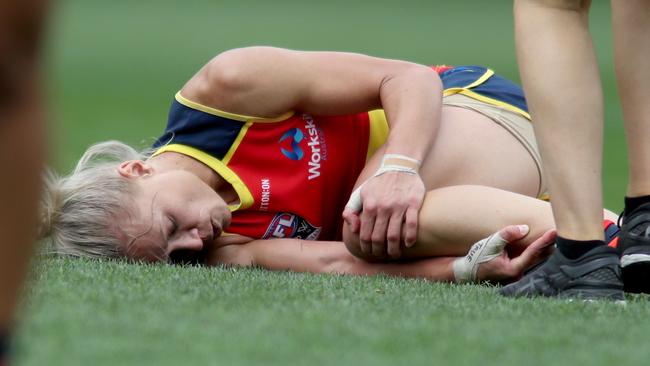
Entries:
<svg viewBox="0 0 650 366">
<path fill-rule="evenodd" d="M 621 267 L 627 290 L 650 292 L 650 1 L 612 0 L 612 26 L 630 161 Z"/>
</svg>

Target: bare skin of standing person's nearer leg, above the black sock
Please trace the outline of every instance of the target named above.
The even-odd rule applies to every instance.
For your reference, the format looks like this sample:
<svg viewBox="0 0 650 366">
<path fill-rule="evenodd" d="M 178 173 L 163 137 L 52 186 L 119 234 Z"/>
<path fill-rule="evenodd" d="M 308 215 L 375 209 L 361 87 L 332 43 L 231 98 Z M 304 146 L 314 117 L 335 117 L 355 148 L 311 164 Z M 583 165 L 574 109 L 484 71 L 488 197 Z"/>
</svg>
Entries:
<svg viewBox="0 0 650 366">
<path fill-rule="evenodd" d="M 517 57 L 558 235 L 602 240 L 603 97 L 589 1 L 515 1 Z"/>
</svg>

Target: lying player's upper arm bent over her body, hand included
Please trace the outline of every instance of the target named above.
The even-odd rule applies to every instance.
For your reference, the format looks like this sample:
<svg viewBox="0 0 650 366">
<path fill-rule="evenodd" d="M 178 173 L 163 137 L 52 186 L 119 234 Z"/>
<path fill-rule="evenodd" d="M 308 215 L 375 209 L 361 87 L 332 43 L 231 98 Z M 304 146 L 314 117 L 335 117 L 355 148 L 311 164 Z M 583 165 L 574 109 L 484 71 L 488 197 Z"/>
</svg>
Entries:
<svg viewBox="0 0 650 366">
<path fill-rule="evenodd" d="M 435 137 L 442 99 L 440 78 L 431 68 L 351 53 L 253 47 L 215 57 L 181 94 L 258 117 L 293 110 L 336 115 L 383 108 L 391 128 L 385 153 L 397 154 L 393 163 L 410 164 L 411 171 L 370 178 L 361 191 L 363 211 L 359 215 L 348 209 L 344 217 L 359 233 L 366 253 L 397 255 L 400 242 L 415 242 L 425 188 L 419 164 L 413 162 L 422 161 Z"/>
</svg>

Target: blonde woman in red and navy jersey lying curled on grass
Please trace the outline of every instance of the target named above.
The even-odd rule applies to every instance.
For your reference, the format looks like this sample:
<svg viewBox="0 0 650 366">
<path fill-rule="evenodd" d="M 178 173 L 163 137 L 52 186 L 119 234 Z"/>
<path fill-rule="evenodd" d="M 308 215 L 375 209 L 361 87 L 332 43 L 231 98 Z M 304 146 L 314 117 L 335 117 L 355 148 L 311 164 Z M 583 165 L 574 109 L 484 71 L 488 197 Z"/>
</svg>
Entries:
<svg viewBox="0 0 650 366">
<path fill-rule="evenodd" d="M 44 235 L 75 256 L 453 280 L 472 243 L 527 224 L 502 232 L 516 254 L 538 239 L 526 255 L 467 279 L 514 278 L 553 227 L 528 118 L 483 67 L 232 50 L 176 94 L 151 153 L 101 143 L 50 179 Z"/>
</svg>

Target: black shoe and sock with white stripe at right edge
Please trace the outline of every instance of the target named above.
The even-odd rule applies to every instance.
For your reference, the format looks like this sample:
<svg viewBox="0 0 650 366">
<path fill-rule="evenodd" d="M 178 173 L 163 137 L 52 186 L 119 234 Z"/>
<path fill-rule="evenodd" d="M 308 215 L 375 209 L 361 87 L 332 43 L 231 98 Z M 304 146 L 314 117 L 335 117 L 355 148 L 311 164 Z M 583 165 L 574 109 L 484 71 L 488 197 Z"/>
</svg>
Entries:
<svg viewBox="0 0 650 366">
<path fill-rule="evenodd" d="M 625 291 L 650 293 L 650 203 L 625 213 L 618 251 Z"/>
</svg>

